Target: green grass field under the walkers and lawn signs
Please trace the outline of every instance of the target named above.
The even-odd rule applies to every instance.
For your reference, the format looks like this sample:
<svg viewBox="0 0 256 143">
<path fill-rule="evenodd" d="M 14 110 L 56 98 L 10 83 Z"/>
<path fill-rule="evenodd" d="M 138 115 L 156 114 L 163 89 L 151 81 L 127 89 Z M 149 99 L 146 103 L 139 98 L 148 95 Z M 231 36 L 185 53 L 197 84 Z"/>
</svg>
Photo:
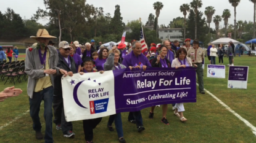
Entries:
<svg viewBox="0 0 256 143">
<path fill-rule="evenodd" d="M 218 59 L 218 58 L 217 58 Z M 225 58 L 228 64 L 228 58 Z M 207 64 L 207 61 L 205 62 Z M 209 63 L 209 62 L 208 62 Z M 207 65 L 205 64 L 205 68 Z M 226 66 L 226 79 L 207 78 L 207 69 L 204 69 L 204 88 L 225 102 L 241 117 L 245 118 L 253 126 L 256 126 L 256 60 L 250 56 L 236 56 L 236 66 L 249 66 L 249 80 L 247 90 L 228 89 L 228 66 Z M 10 87 L 13 84 L 0 82 L 0 90 Z M 29 104 L 27 96 L 27 83 L 17 83 L 17 88 L 22 88 L 23 94 L 15 98 L 6 99 L 0 102 L 0 142 L 44 142 L 35 139 L 35 131 L 32 128 L 32 120 L 29 115 Z M 126 142 L 256 142 L 256 136 L 244 122 L 239 120 L 225 107 L 205 94 L 197 91 L 197 102 L 184 104 L 184 117 L 188 122 L 181 123 L 179 118 L 173 115 L 169 106 L 167 119 L 170 125 L 160 122 L 162 118 L 162 107 L 156 107 L 154 119 L 149 119 L 149 108 L 143 109 L 142 117 L 146 128 L 142 133 L 136 131 L 136 125 L 128 122 L 128 113 L 122 113 L 123 132 Z M 43 104 L 39 116 L 44 134 Z M 12 122 L 15 118 L 19 118 Z M 108 117 L 94 129 L 94 142 L 118 142 L 116 131 L 110 132 L 107 129 Z M 6 127 L 1 129 L 1 126 Z M 54 125 L 54 124 L 53 124 Z M 53 126 L 53 137 L 55 142 L 85 142 L 81 121 L 73 122 L 75 139 L 67 139 L 62 136 L 62 131 L 57 131 Z"/>
</svg>

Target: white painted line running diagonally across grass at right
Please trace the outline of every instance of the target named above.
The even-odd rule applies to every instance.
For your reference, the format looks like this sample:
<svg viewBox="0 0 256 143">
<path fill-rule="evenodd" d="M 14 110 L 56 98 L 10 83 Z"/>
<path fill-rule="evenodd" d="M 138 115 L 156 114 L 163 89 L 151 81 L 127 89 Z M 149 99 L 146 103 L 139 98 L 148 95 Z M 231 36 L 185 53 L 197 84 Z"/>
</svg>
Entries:
<svg viewBox="0 0 256 143">
<path fill-rule="evenodd" d="M 196 83 L 197 86 L 198 83 Z M 205 89 L 204 89 L 205 90 Z M 231 112 L 232 114 L 234 114 L 237 118 L 239 118 L 242 122 L 244 122 L 250 129 L 252 129 L 252 133 L 256 136 L 256 127 L 254 125 L 252 125 L 250 122 L 248 122 L 246 119 L 242 118 L 241 115 L 237 114 L 236 112 L 234 112 L 234 110 L 232 110 L 230 107 L 228 107 L 224 102 L 222 102 L 220 99 L 218 99 L 215 95 L 213 95 L 212 93 L 210 93 L 210 91 L 205 90 L 206 93 L 208 93 L 210 96 L 212 96 L 214 99 L 216 99 L 222 106 L 224 106 L 229 112 Z"/>
</svg>

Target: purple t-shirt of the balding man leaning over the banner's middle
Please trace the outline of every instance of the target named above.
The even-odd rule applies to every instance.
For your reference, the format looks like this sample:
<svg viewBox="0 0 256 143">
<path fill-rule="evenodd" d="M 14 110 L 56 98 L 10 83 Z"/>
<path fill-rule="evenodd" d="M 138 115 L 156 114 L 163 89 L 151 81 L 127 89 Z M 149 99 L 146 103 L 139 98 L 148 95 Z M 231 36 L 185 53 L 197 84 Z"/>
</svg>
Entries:
<svg viewBox="0 0 256 143">
<path fill-rule="evenodd" d="M 141 53 L 141 55 L 135 56 L 133 51 L 128 55 L 126 55 L 125 58 L 123 58 L 122 64 L 125 65 L 126 67 L 138 66 L 138 65 L 140 65 L 141 67 L 143 65 L 146 65 L 147 67 L 151 67 L 151 63 L 149 63 L 149 60 L 145 55 Z"/>
</svg>

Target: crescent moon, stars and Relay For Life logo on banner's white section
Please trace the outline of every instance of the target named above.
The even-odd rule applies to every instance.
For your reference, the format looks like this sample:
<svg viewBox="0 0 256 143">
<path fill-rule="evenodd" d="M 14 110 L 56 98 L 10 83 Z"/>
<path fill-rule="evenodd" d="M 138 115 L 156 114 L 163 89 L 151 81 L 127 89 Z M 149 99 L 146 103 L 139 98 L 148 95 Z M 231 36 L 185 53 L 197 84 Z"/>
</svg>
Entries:
<svg viewBox="0 0 256 143">
<path fill-rule="evenodd" d="M 79 90 L 79 87 L 81 85 L 81 83 L 85 82 L 85 80 L 78 82 L 73 90 L 73 98 L 76 102 L 76 104 L 78 104 L 78 106 L 88 109 L 88 107 L 83 106 L 83 104 L 81 104 L 81 102 L 78 99 L 78 95 L 77 95 L 77 91 Z M 89 89 L 88 91 L 88 96 L 89 96 L 89 109 L 91 114 L 98 114 L 101 112 L 106 112 L 107 111 L 107 106 L 109 104 L 109 91 L 104 91 L 104 88 L 100 88 L 101 83 L 97 83 L 96 80 L 91 80 L 88 79 L 86 80 L 86 82 L 91 82 L 90 85 L 96 85 L 96 89 Z M 72 80 L 71 85 L 75 84 L 75 80 Z M 94 86 L 95 87 L 95 86 Z M 85 90 L 83 88 L 83 90 Z M 104 99 L 97 99 L 97 98 L 102 98 L 102 97 L 106 97 Z M 91 100 L 94 99 L 94 100 Z"/>
</svg>

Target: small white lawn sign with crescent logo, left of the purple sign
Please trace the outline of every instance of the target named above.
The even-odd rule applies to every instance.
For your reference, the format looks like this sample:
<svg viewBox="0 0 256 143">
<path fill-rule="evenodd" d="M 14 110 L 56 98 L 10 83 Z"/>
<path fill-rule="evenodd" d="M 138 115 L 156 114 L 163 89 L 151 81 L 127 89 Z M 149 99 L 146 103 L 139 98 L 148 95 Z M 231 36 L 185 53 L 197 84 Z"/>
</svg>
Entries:
<svg viewBox="0 0 256 143">
<path fill-rule="evenodd" d="M 207 77 L 225 79 L 225 65 L 207 64 Z"/>
</svg>

